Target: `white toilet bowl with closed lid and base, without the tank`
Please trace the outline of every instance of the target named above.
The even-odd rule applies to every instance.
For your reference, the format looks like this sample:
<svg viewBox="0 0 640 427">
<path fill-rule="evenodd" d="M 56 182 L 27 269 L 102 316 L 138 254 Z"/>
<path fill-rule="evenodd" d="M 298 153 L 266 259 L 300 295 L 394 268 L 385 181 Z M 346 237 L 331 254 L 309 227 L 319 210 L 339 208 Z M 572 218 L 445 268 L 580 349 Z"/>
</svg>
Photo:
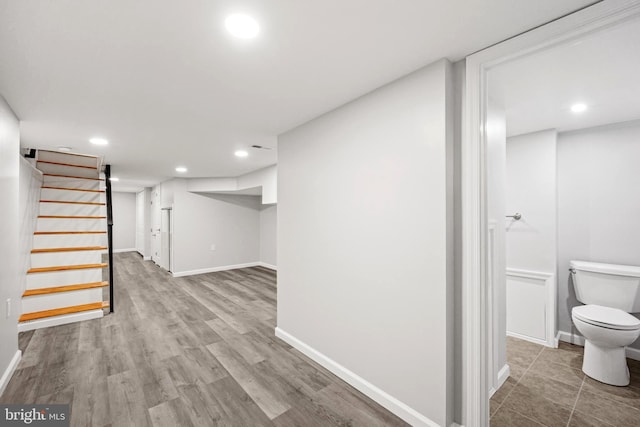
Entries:
<svg viewBox="0 0 640 427">
<path fill-rule="evenodd" d="M 606 384 L 629 385 L 625 347 L 640 336 L 640 320 L 595 304 L 574 307 L 571 318 L 585 338 L 582 371 Z"/>
</svg>

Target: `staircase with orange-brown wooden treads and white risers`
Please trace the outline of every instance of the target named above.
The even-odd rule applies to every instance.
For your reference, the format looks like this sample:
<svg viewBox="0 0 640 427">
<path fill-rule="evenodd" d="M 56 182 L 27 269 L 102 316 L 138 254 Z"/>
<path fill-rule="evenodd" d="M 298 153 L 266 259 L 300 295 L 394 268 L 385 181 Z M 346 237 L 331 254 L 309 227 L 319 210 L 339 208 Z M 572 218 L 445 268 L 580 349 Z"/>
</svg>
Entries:
<svg viewBox="0 0 640 427">
<path fill-rule="evenodd" d="M 39 150 L 36 167 L 43 184 L 19 331 L 102 317 L 109 308 L 99 158 Z"/>
</svg>

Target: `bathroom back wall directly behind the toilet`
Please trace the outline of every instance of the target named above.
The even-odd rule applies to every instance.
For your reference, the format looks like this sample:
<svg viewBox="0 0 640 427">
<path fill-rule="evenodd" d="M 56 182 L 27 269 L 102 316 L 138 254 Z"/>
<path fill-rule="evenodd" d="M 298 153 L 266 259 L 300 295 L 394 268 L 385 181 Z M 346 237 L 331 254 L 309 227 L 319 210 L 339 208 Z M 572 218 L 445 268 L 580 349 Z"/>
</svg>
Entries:
<svg viewBox="0 0 640 427">
<path fill-rule="evenodd" d="M 558 323 L 562 339 L 575 299 L 569 261 L 640 265 L 640 121 L 558 136 Z M 636 341 L 632 347 L 640 349 Z M 636 351 L 635 357 L 640 355 Z"/>
</svg>

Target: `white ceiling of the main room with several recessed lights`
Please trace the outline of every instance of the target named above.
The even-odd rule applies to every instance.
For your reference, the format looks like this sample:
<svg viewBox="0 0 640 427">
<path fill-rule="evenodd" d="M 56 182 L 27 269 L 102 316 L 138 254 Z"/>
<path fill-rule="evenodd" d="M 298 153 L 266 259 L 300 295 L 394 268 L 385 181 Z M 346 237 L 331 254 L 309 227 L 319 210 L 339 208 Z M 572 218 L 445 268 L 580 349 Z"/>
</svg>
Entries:
<svg viewBox="0 0 640 427">
<path fill-rule="evenodd" d="M 442 57 L 592 0 L 0 0 L 0 93 L 23 146 L 104 155 L 120 182 L 237 176 L 276 135 Z M 254 40 L 224 31 L 253 15 Z M 98 148 L 93 136 L 111 142 Z"/>
</svg>

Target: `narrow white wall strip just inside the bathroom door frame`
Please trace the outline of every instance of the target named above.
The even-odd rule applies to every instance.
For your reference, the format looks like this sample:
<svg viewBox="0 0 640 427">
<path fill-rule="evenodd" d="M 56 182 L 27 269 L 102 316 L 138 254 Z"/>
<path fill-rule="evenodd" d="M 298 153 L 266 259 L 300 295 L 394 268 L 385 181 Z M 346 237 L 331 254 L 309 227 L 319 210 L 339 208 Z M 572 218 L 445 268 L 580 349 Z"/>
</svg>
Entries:
<svg viewBox="0 0 640 427">
<path fill-rule="evenodd" d="M 497 100 L 491 99 L 487 110 L 487 220 L 489 237 L 490 281 L 487 289 L 490 316 L 494 328 L 488 337 L 489 385 L 497 390 L 502 382 L 500 370 L 507 364 L 506 267 L 505 229 L 506 212 L 506 119 L 505 111 Z"/>
</svg>

